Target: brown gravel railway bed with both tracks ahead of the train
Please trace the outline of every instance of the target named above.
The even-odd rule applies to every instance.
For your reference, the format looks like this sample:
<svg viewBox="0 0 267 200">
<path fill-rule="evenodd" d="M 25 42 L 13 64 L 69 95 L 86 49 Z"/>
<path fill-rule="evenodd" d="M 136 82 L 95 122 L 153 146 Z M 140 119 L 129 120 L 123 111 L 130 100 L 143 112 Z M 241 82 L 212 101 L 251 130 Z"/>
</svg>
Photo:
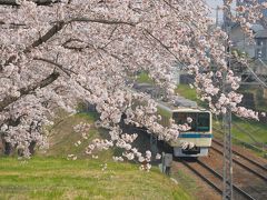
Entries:
<svg viewBox="0 0 267 200">
<path fill-rule="evenodd" d="M 220 168 L 222 169 L 222 163 L 220 162 L 220 158 L 222 158 L 224 156 L 222 142 L 217 139 L 212 139 L 212 147 L 210 147 L 210 153 L 211 157 L 199 158 L 198 160 L 195 160 L 195 162 L 185 159 L 179 159 L 179 161 L 189 170 L 191 170 L 195 174 L 200 177 L 214 190 L 221 194 L 222 173 Z M 233 162 L 235 168 L 235 179 L 233 183 L 234 198 L 263 199 L 264 197 L 266 197 L 266 190 L 264 189 L 266 188 L 264 187 L 264 184 L 266 184 L 267 182 L 266 166 L 257 162 L 256 160 L 253 160 L 251 158 L 249 158 L 248 154 L 244 154 L 244 152 L 240 152 L 235 148 L 233 149 Z M 244 177 L 246 178 L 244 179 Z M 249 180 L 254 181 L 250 182 Z"/>
</svg>

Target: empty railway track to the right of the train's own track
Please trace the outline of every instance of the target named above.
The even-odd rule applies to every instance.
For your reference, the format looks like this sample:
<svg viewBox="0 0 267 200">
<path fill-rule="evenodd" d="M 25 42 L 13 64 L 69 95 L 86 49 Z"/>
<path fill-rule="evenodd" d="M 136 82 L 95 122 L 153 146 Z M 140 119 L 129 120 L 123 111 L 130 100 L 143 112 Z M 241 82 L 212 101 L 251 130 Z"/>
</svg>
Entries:
<svg viewBox="0 0 267 200">
<path fill-rule="evenodd" d="M 212 139 L 212 146 L 210 147 L 210 149 L 220 153 L 221 156 L 224 154 L 224 144 L 216 139 Z M 234 157 L 233 157 L 234 163 L 240 166 L 241 168 L 257 176 L 264 181 L 267 181 L 267 177 L 266 177 L 267 169 L 265 166 L 256 162 L 255 160 L 251 160 L 248 157 L 245 157 L 244 154 L 239 153 L 236 150 L 233 150 L 233 153 L 234 153 Z"/>
</svg>

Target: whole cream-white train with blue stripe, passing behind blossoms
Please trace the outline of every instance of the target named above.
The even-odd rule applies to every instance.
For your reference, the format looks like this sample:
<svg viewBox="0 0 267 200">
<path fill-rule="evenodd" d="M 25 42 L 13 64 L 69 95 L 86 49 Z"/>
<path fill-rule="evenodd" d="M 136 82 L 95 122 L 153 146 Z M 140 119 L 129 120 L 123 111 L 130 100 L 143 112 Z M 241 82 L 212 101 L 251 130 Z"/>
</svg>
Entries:
<svg viewBox="0 0 267 200">
<path fill-rule="evenodd" d="M 156 92 L 149 84 L 138 84 L 137 90 L 150 93 L 158 99 Z M 170 124 L 170 120 L 175 120 L 177 124 L 187 122 L 187 118 L 191 118 L 189 124 L 190 130 L 180 132 L 179 137 L 168 142 L 175 157 L 204 157 L 208 156 L 208 149 L 212 140 L 212 114 L 209 110 L 197 107 L 195 101 L 177 97 L 172 103 L 157 100 L 158 114 L 161 116 L 161 123 L 165 127 Z M 184 143 L 194 143 L 194 148 L 182 149 Z"/>
</svg>

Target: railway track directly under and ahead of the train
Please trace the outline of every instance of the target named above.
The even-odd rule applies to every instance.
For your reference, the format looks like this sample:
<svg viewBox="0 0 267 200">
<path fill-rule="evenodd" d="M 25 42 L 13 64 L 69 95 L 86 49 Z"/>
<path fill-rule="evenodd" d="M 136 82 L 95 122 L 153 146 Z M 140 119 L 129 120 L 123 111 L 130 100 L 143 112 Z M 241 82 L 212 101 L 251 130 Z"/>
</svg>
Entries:
<svg viewBox="0 0 267 200">
<path fill-rule="evenodd" d="M 222 176 L 215 171 L 212 168 L 207 166 L 200 160 L 195 162 L 179 160 L 182 164 L 185 164 L 188 169 L 190 169 L 194 173 L 200 177 L 205 182 L 207 182 L 211 188 L 214 188 L 218 193 L 222 194 Z M 235 197 L 246 198 L 249 200 L 255 200 L 249 193 L 233 184 L 233 189 L 235 192 Z M 238 199 L 236 198 L 236 199 Z"/>
</svg>

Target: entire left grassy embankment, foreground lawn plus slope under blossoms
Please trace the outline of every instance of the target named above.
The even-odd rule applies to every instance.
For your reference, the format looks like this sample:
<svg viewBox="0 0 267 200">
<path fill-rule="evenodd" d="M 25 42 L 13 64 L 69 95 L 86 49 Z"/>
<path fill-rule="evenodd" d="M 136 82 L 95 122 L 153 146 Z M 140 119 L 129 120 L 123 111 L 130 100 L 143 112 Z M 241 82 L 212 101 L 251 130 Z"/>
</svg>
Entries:
<svg viewBox="0 0 267 200">
<path fill-rule="evenodd" d="M 0 157 L 0 199 L 191 199 L 156 167 L 144 172 L 138 164 L 113 162 L 113 150 L 99 152 L 98 160 L 86 156 L 86 144 L 102 138 L 105 130 L 92 126 L 89 139 L 76 147 L 81 136 L 72 126 L 93 120 L 95 116 L 81 113 L 57 121 L 49 128 L 51 147 L 46 156 L 38 153 L 29 161 Z M 68 153 L 78 160 L 67 160 Z"/>
</svg>

